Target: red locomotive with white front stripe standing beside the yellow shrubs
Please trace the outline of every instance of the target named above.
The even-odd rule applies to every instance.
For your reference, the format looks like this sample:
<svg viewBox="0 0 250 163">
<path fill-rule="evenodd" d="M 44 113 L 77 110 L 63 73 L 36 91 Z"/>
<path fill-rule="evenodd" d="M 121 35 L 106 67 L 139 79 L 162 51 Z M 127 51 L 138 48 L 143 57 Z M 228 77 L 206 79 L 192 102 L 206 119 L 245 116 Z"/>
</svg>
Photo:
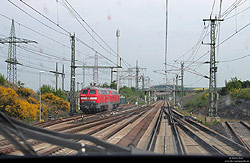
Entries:
<svg viewBox="0 0 250 163">
<path fill-rule="evenodd" d="M 112 110 L 119 104 L 120 95 L 114 89 L 88 86 L 80 93 L 80 109 L 84 113 Z"/>
</svg>

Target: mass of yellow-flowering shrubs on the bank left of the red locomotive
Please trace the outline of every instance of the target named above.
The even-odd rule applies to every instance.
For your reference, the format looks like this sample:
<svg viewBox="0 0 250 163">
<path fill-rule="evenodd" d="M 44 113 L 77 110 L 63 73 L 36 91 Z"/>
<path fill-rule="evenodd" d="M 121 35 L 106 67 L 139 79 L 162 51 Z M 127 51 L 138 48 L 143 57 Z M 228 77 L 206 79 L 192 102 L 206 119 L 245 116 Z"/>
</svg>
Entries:
<svg viewBox="0 0 250 163">
<path fill-rule="evenodd" d="M 0 111 L 21 120 L 37 120 L 39 117 L 39 100 L 32 89 L 5 88 L 0 86 Z M 69 111 L 69 102 L 52 93 L 42 95 L 41 116 L 47 119 L 51 109 Z"/>
</svg>

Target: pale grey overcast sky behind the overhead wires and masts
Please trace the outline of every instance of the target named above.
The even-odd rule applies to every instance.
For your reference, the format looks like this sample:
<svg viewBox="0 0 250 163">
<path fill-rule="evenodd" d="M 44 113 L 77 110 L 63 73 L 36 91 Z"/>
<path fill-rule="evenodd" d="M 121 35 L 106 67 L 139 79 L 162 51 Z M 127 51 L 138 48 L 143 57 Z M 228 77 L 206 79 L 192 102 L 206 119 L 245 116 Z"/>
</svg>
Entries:
<svg viewBox="0 0 250 163">
<path fill-rule="evenodd" d="M 69 35 L 19 0 L 11 1 L 23 11 L 30 14 L 30 16 L 7 0 L 1 1 L 0 38 L 8 37 L 10 34 L 11 20 L 4 17 L 7 16 L 16 21 L 15 32 L 17 37 L 38 42 L 38 44 L 18 45 L 22 47 L 22 49 L 17 47 L 18 62 L 26 65 L 26 67 L 17 66 L 18 80 L 24 82 L 26 84 L 25 86 L 37 90 L 39 68 L 45 71 L 55 70 L 55 62 L 58 62 L 60 72 L 62 64 L 65 65 L 65 89 L 68 90 L 70 85 L 71 57 Z M 89 30 L 87 25 L 82 22 L 85 28 L 89 30 L 89 33 L 77 22 L 73 12 L 65 7 L 65 1 L 58 1 L 57 3 L 56 0 L 24 0 L 28 5 L 55 23 L 58 23 L 70 33 L 75 33 L 76 37 L 81 41 L 114 63 L 116 63 L 116 57 L 113 56 L 114 53 L 95 36 L 95 39 L 97 39 L 106 50 L 101 48 L 89 33 L 98 33 L 106 44 L 116 51 L 115 32 L 117 29 L 120 29 L 120 56 L 132 67 L 135 67 L 136 60 L 138 60 L 139 67 L 146 68 L 146 71 L 141 71 L 140 74 L 142 75 L 144 73 L 145 76 L 150 77 L 152 85 L 164 83 L 164 76 L 154 73 L 153 71 L 164 69 L 166 33 L 165 0 L 69 0 L 68 2 L 82 16 L 85 22 L 94 29 L 94 32 Z M 235 0 L 222 1 L 222 13 L 228 9 L 234 1 Z M 232 10 L 221 23 L 220 37 L 217 37 L 219 42 L 222 42 L 249 23 L 250 10 L 248 8 L 250 4 L 247 0 L 242 0 L 241 3 L 242 4 Z M 209 18 L 212 8 L 212 17 L 215 15 L 218 16 L 219 0 L 215 0 L 215 3 L 214 0 L 169 0 L 167 63 L 180 67 L 179 64 L 174 62 L 175 60 L 195 61 L 209 51 L 208 45 L 200 45 L 196 53 L 194 48 L 181 57 L 189 49 L 194 47 L 201 34 L 203 34 L 202 37 L 206 36 L 203 39 L 204 43 L 209 43 L 210 28 L 208 27 L 208 23 L 204 26 L 203 19 Z M 33 18 L 31 16 L 33 16 Z M 41 24 L 41 22 L 47 26 Z M 204 27 L 207 28 L 204 29 Z M 249 47 L 250 27 L 246 27 L 219 47 L 219 53 L 216 55 L 217 60 L 226 61 L 250 54 Z M 23 50 L 24 48 L 29 49 L 29 51 L 32 50 L 33 53 Z M 76 50 L 76 65 L 82 65 L 83 61 L 87 65 L 94 65 L 93 56 L 95 52 L 93 50 L 79 41 L 76 41 Z M 4 74 L 5 77 L 7 76 L 7 64 L 5 62 L 7 56 L 8 45 L 1 44 L 0 73 Z M 206 54 L 199 60 L 199 63 L 208 60 L 209 54 Z M 225 80 L 229 80 L 235 76 L 242 80 L 249 80 L 249 61 L 250 58 L 246 57 L 233 62 L 220 62 L 218 64 L 217 85 L 219 87 L 224 86 Z M 107 61 L 101 56 L 99 56 L 98 62 L 100 66 L 115 66 L 114 63 Z M 188 66 L 190 63 L 191 62 L 186 62 L 185 66 Z M 128 68 L 124 63 L 122 63 L 122 67 L 123 71 Z M 172 67 L 168 66 L 168 69 L 171 68 Z M 190 68 L 195 69 L 200 74 L 209 75 L 209 67 L 206 64 L 196 64 Z M 92 73 L 92 69 L 86 70 L 86 85 L 92 81 Z M 176 71 L 176 73 L 180 73 L 180 71 Z M 174 74 L 168 74 L 170 82 L 172 82 L 173 77 Z M 81 83 L 82 80 L 82 70 L 77 69 L 76 81 Z M 100 83 L 110 82 L 110 70 L 99 71 L 99 81 Z M 42 75 L 42 83 L 55 86 L 54 74 L 45 72 Z M 122 84 L 127 85 L 128 81 L 125 80 Z M 189 87 L 208 87 L 208 80 L 185 71 L 184 84 Z M 61 87 L 61 77 L 59 77 L 59 87 Z"/>
</svg>

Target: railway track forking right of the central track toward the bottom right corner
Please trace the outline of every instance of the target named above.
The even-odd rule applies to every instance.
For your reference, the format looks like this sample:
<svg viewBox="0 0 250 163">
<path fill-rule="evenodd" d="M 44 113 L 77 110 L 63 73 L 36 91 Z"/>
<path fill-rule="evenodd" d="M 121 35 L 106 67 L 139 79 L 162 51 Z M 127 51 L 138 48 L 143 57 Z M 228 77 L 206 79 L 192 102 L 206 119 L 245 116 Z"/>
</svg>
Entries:
<svg viewBox="0 0 250 163">
<path fill-rule="evenodd" d="M 249 156 L 250 152 L 246 147 L 195 122 L 192 118 L 185 118 L 176 111 L 173 111 L 173 113 L 175 114 L 174 120 L 178 123 L 178 127 L 193 139 L 200 146 L 200 149 L 205 150 L 206 152 L 204 153 L 217 156 Z M 181 139 L 184 140 L 184 138 Z M 189 151 L 185 143 L 184 149 L 186 152 Z"/>
</svg>

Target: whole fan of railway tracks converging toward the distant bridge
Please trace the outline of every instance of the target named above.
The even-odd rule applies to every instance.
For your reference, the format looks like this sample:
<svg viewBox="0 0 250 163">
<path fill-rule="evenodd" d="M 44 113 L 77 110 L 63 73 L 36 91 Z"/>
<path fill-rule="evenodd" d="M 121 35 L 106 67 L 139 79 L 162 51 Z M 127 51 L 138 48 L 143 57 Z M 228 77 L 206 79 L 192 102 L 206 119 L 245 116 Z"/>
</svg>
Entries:
<svg viewBox="0 0 250 163">
<path fill-rule="evenodd" d="M 51 137 L 51 140 L 34 140 L 34 137 L 30 136 L 28 143 L 36 154 L 42 156 L 104 154 L 108 150 L 112 154 L 121 154 L 131 149 L 137 154 L 149 151 L 146 153 L 249 157 L 249 139 L 239 134 L 242 127 L 245 129 L 244 134 L 249 134 L 248 124 L 242 122 L 240 125 L 229 125 L 245 144 L 230 140 L 191 117 L 184 117 L 173 110 L 169 103 L 158 101 L 150 106 L 127 107 L 112 113 L 85 116 L 84 120 L 81 120 L 80 116 L 75 116 L 61 121 L 36 124 L 47 129 L 41 130 L 45 134 L 48 132 L 53 136 L 66 138 L 67 141 L 70 139 L 71 142 L 68 143 L 72 146 L 67 143 L 61 145 L 60 139 L 57 142 L 58 139 L 54 137 Z M 92 139 L 95 141 L 90 141 Z M 65 143 L 64 140 L 61 140 L 61 143 Z M 107 150 L 104 146 L 110 149 Z M 79 148 L 82 148 L 83 152 L 79 152 Z M 0 140 L 0 152 L 9 155 L 23 154 L 23 151 L 17 150 L 4 140 Z"/>
</svg>

